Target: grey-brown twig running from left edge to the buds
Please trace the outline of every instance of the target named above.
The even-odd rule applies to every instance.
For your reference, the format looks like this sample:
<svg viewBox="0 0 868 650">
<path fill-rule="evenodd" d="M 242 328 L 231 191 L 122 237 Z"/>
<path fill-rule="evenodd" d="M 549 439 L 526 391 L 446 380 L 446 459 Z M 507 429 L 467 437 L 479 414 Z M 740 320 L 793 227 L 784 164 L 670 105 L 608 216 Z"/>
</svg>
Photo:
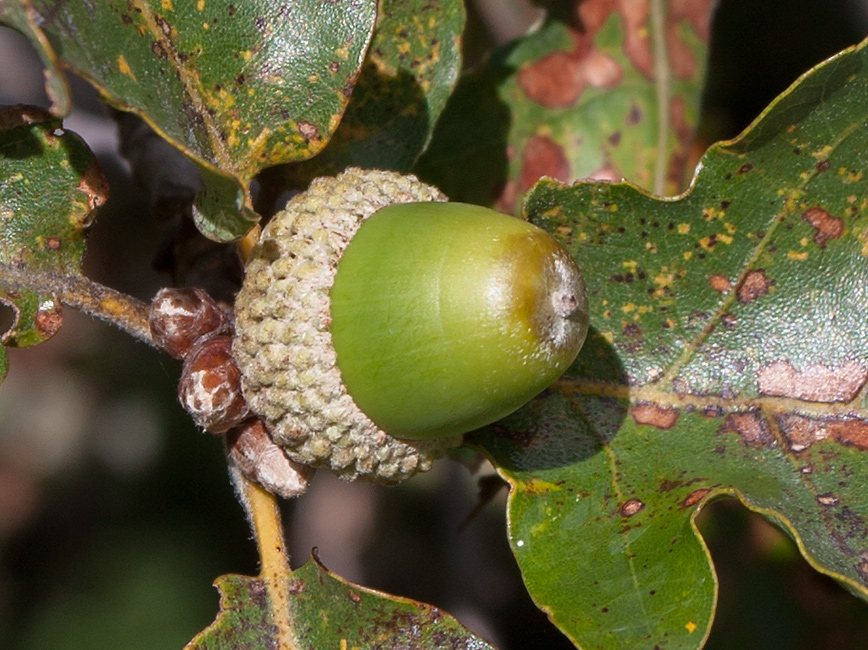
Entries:
<svg viewBox="0 0 868 650">
<path fill-rule="evenodd" d="M 83 275 L 60 275 L 0 264 L 0 286 L 11 291 L 51 294 L 63 305 L 116 325 L 132 337 L 154 345 L 147 303 Z"/>
</svg>

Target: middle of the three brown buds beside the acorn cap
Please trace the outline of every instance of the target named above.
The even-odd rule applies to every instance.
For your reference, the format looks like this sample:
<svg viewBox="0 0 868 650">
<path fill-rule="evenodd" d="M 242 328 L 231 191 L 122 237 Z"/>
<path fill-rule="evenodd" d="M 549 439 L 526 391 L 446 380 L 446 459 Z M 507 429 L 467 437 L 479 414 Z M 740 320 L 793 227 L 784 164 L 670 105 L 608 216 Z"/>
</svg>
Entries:
<svg viewBox="0 0 868 650">
<path fill-rule="evenodd" d="M 196 424 L 223 433 L 247 417 L 241 373 L 232 357 L 232 337 L 199 341 L 184 359 L 178 398 Z"/>
</svg>

